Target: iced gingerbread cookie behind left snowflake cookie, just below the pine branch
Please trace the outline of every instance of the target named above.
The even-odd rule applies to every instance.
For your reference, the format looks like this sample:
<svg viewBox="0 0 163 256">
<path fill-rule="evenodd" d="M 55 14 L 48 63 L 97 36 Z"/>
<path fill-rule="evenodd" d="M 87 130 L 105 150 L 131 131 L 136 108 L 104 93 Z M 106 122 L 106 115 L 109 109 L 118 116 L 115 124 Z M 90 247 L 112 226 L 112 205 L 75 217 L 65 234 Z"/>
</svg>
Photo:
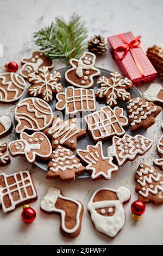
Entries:
<svg viewBox="0 0 163 256">
<path fill-rule="evenodd" d="M 54 63 L 45 54 L 40 51 L 32 53 L 30 58 L 22 58 L 22 68 L 20 70 L 20 75 L 27 78 L 29 74 L 37 73 L 39 68 L 46 66 L 49 70 L 52 70 Z"/>
</svg>

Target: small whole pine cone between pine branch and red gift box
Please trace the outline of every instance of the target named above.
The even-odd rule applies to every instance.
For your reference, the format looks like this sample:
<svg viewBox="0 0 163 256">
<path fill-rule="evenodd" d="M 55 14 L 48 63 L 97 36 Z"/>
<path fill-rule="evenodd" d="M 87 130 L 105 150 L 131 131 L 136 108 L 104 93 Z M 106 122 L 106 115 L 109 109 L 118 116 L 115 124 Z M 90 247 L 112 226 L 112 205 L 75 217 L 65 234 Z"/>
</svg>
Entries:
<svg viewBox="0 0 163 256">
<path fill-rule="evenodd" d="M 108 49 L 105 39 L 101 35 L 93 36 L 93 38 L 88 41 L 87 48 L 90 52 L 95 54 L 104 54 Z"/>
</svg>

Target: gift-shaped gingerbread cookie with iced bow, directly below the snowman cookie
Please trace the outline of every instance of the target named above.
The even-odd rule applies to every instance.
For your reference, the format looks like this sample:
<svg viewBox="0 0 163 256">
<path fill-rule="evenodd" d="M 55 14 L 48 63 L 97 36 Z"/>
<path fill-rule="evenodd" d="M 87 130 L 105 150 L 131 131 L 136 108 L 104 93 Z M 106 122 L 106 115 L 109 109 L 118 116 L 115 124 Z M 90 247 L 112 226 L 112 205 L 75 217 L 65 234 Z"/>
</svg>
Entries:
<svg viewBox="0 0 163 256">
<path fill-rule="evenodd" d="M 58 102 L 55 108 L 65 109 L 66 114 L 96 110 L 95 92 L 92 89 L 68 86 L 65 93 L 58 93 L 56 97 Z"/>
</svg>

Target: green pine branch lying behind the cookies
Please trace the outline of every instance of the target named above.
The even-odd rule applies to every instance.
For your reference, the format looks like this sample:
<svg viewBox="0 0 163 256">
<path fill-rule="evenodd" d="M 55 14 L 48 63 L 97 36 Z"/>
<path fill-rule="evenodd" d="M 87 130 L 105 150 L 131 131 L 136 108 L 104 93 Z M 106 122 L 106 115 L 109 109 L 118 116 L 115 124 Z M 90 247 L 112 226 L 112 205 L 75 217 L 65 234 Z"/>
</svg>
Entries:
<svg viewBox="0 0 163 256">
<path fill-rule="evenodd" d="M 34 42 L 51 59 L 79 58 L 86 50 L 87 29 L 81 17 L 73 14 L 68 23 L 57 17 L 50 26 L 34 33 Z"/>
</svg>

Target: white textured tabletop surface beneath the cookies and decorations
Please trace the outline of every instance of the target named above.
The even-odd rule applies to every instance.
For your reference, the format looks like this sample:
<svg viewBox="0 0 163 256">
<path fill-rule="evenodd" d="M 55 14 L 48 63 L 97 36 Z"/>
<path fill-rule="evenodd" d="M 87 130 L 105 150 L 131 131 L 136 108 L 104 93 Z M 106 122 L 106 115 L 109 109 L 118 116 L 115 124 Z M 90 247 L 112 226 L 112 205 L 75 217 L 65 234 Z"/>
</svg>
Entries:
<svg viewBox="0 0 163 256">
<path fill-rule="evenodd" d="M 114 35 L 127 31 L 132 31 L 134 35 L 142 35 L 142 47 L 144 50 L 153 44 L 163 42 L 162 11 L 163 2 L 160 0 L 28 0 L 9 1 L 0 0 L 0 44 L 4 46 L 4 57 L 0 57 L 0 65 L 9 61 L 20 63 L 22 57 L 35 49 L 32 45 L 32 34 L 44 25 L 48 25 L 56 15 L 64 17 L 76 12 L 83 16 L 89 36 L 102 34 L 104 36 Z M 61 68 L 64 64 L 55 62 L 55 68 Z M 117 70 L 117 66 L 112 60 L 110 53 L 97 59 L 97 66 L 109 70 Z M 159 80 L 157 82 L 160 82 Z M 138 89 L 142 93 L 148 84 L 140 86 Z M 13 119 L 15 105 L 1 105 L 1 115 L 9 115 Z M 60 182 L 59 180 L 46 180 L 46 173 L 43 170 L 31 166 L 24 158 L 17 157 L 11 160 L 7 167 L 1 167 L 1 173 L 7 174 L 28 169 L 33 173 L 38 199 L 32 203 L 36 210 L 36 220 L 28 225 L 21 221 L 22 208 L 17 208 L 14 212 L 3 214 L 0 211 L 0 243 L 1 245 L 129 245 L 129 244 L 162 244 L 162 212 L 163 205 L 155 207 L 147 205 L 146 212 L 140 222 L 135 222 L 131 218 L 130 204 L 137 198 L 134 182 L 134 174 L 140 162 L 153 162 L 156 153 L 156 141 L 161 135 L 160 123 L 162 113 L 147 133 L 147 137 L 154 139 L 153 149 L 145 156 L 138 157 L 133 163 L 127 163 L 120 168 L 117 175 L 111 181 L 96 181 L 90 179 L 76 180 L 74 182 Z M 13 132 L 13 131 L 12 131 Z M 12 133 L 5 138 L 5 141 L 14 139 Z M 62 193 L 67 197 L 78 199 L 84 204 L 83 225 L 80 235 L 76 239 L 66 239 L 59 231 L 60 218 L 53 214 L 47 215 L 41 212 L 39 205 L 43 196 L 51 186 L 61 188 Z M 115 237 L 102 235 L 93 227 L 90 216 L 87 213 L 86 205 L 91 194 L 97 188 L 109 186 L 118 188 L 127 186 L 131 191 L 130 203 L 124 206 L 126 211 L 126 224 L 122 231 Z"/>
</svg>

